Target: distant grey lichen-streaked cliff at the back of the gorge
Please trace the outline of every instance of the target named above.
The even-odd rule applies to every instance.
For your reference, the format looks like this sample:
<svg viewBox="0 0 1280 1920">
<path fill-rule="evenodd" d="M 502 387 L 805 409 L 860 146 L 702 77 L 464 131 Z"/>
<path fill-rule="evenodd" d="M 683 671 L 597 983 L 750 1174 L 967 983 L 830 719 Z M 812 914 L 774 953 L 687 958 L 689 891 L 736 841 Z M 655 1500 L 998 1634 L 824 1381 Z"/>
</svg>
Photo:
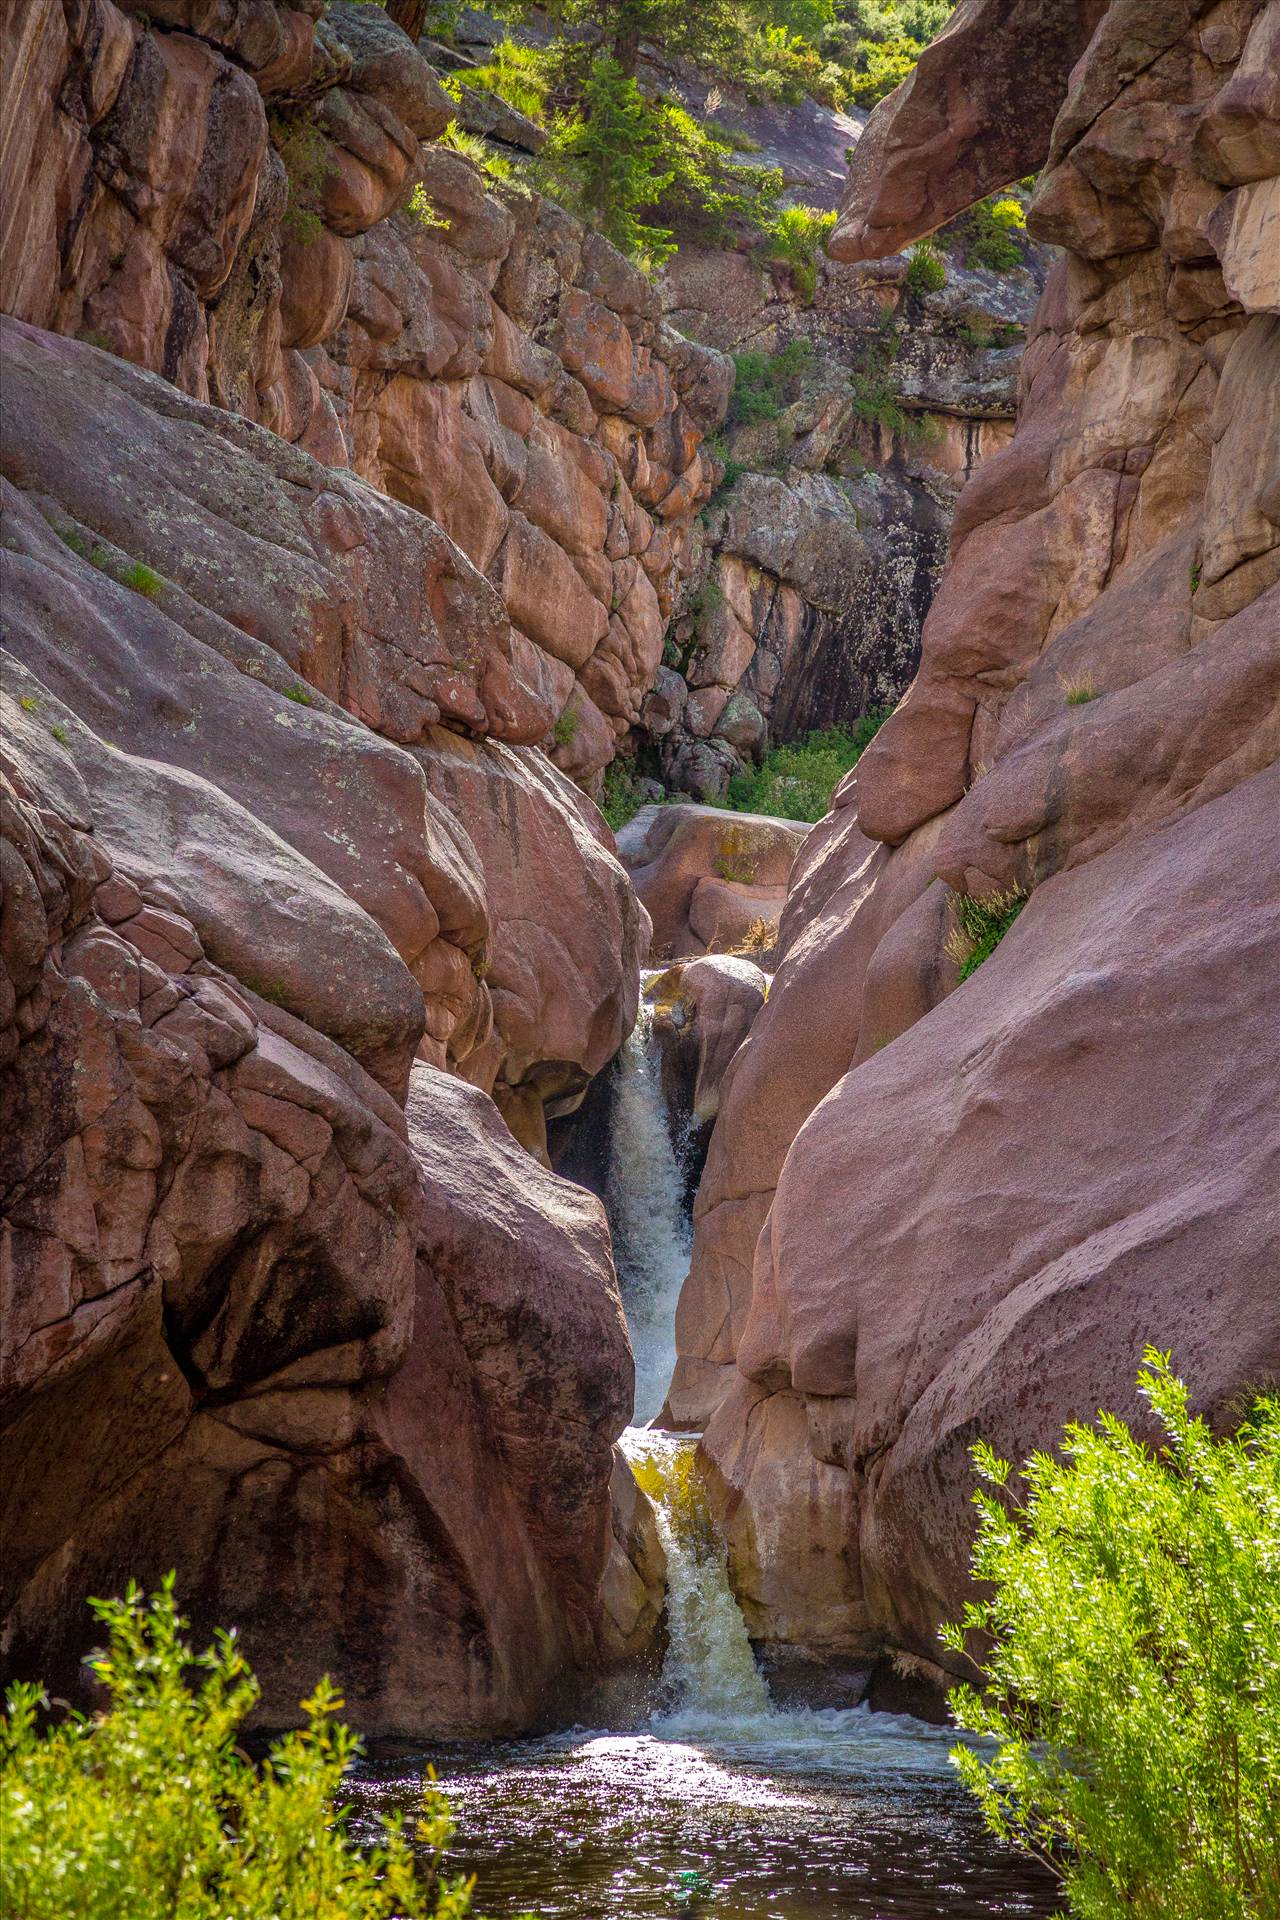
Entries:
<svg viewBox="0 0 1280 1920">
<path fill-rule="evenodd" d="M 777 263 L 741 253 L 681 248 L 664 271 L 695 338 L 802 353 L 764 419 L 731 407 L 733 465 L 668 634 L 685 691 L 660 685 L 641 708 L 641 747 L 699 799 L 773 741 L 892 707 L 915 672 L 960 484 L 1011 436 L 1046 265 L 1029 250 L 1011 273 L 969 269 L 954 238 L 927 294 L 906 255 L 821 261 L 810 305 Z"/>
</svg>

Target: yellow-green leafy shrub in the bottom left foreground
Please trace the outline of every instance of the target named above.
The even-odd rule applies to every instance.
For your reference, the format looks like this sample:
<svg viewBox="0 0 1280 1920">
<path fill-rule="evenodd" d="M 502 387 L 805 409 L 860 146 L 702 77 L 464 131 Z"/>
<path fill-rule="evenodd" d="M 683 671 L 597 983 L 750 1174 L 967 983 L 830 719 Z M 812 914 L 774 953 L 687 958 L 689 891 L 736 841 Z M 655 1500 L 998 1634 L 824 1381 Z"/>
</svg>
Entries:
<svg viewBox="0 0 1280 1920">
<path fill-rule="evenodd" d="M 0 1724 L 0 1907 L 13 1920 L 462 1920 L 464 1882 L 428 1893 L 399 1818 L 357 1851 L 334 1805 L 359 1753 L 336 1688 L 261 1768 L 238 1745 L 259 1688 L 232 1634 L 192 1653 L 173 1578 L 148 1601 L 90 1601 L 107 1645 L 88 1668 L 106 1711 L 48 1720 L 38 1684 Z M 449 1814 L 424 1797 L 416 1837 L 439 1857 Z"/>
</svg>

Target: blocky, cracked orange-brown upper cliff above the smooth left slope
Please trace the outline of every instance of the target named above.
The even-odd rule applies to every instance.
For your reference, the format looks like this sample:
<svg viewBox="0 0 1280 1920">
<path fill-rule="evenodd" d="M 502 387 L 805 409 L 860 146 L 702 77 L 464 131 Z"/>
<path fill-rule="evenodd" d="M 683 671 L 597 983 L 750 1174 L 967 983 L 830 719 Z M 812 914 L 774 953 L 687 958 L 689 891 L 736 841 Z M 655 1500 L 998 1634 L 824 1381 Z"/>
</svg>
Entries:
<svg viewBox="0 0 1280 1920">
<path fill-rule="evenodd" d="M 434 520 L 497 589 L 443 607 L 428 580 L 484 657 L 457 697 L 501 595 L 516 687 L 489 732 L 597 774 L 662 653 L 727 361 L 599 236 L 434 144 L 451 102 L 378 10 L 31 0 L 0 52 L 27 77 L 0 146 L 10 311 Z"/>
</svg>

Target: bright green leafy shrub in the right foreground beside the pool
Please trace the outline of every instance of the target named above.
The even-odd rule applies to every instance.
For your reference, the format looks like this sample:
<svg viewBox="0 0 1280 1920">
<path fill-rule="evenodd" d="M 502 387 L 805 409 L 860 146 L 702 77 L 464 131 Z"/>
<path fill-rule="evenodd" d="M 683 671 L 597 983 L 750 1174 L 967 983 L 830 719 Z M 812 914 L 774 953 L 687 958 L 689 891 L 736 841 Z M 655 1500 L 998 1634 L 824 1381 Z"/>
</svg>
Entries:
<svg viewBox="0 0 1280 1920">
<path fill-rule="evenodd" d="M 1061 1874 L 1077 1920 L 1280 1914 L 1280 1400 L 1238 1432 L 1192 1419 L 1167 1354 L 1138 1377 L 1159 1446 L 1111 1413 L 1057 1459 L 977 1446 L 973 1572 L 986 1692 L 952 1693 L 996 1741 L 952 1761 L 988 1826 Z"/>
</svg>

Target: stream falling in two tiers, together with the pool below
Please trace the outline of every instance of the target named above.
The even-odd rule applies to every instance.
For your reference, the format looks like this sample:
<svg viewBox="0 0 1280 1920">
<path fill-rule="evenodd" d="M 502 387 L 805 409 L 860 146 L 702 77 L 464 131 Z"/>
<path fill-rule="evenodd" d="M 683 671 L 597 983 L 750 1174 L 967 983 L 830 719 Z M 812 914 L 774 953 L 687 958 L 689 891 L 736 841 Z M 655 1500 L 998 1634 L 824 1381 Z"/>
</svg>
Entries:
<svg viewBox="0 0 1280 1920">
<path fill-rule="evenodd" d="M 689 1265 L 685 1179 L 647 1010 L 614 1100 L 608 1215 L 635 1346 L 635 1415 L 662 1407 Z M 956 1734 L 856 1709 L 775 1707 L 691 1473 L 697 1440 L 635 1425 L 654 1496 L 670 1645 L 649 1715 L 543 1738 L 380 1743 L 351 1782 L 357 1832 L 413 1816 L 434 1764 L 449 1866 L 487 1920 L 979 1920 L 1054 1914 L 1055 1885 L 986 1836 L 948 1764 Z"/>
</svg>

